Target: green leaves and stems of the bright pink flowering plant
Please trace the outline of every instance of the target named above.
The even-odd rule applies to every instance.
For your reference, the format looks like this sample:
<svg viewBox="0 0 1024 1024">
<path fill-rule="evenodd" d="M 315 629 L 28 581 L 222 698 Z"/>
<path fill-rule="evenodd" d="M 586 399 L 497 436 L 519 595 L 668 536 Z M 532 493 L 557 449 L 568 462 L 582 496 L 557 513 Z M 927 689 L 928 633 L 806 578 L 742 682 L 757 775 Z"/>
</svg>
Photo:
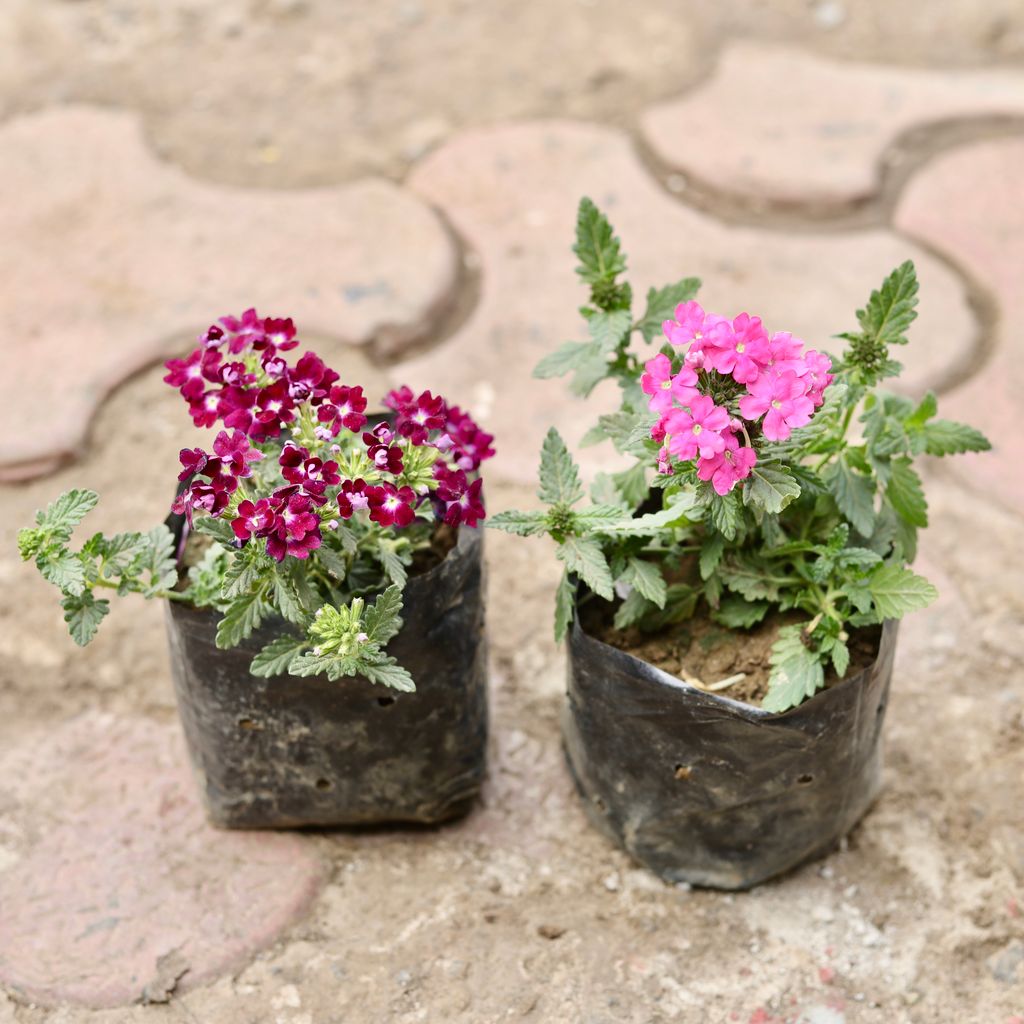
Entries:
<svg viewBox="0 0 1024 1024">
<path fill-rule="evenodd" d="M 590 288 L 581 310 L 588 340 L 566 343 L 537 374 L 572 372 L 579 394 L 614 381 L 620 407 L 600 416 L 585 443 L 610 441 L 630 463 L 599 473 L 587 506 L 579 470 L 552 430 L 541 460 L 546 511 L 502 513 L 492 524 L 554 541 L 566 568 L 556 595 L 558 639 L 578 601 L 612 601 L 617 629 L 644 632 L 698 609 L 732 630 L 785 615 L 764 701 L 769 711 L 785 711 L 824 685 L 826 669 L 847 672 L 850 630 L 934 599 L 934 588 L 907 567 L 918 530 L 928 524 L 916 460 L 989 446 L 972 427 L 937 419 L 935 395 L 914 401 L 878 388 L 899 373 L 890 349 L 907 343 L 916 316 L 913 264 L 890 273 L 857 312 L 857 330 L 840 336 L 846 351 L 834 360 L 836 377 L 807 426 L 770 442 L 748 424 L 757 463 L 722 496 L 685 464 L 677 463 L 674 475 L 655 472 L 656 418 L 640 388 L 650 351 L 642 346 L 656 343 L 663 322 L 699 283 L 687 278 L 650 289 L 642 315 L 631 321 L 622 244 L 589 200 L 580 206 L 575 252 Z M 699 373 L 706 393 L 736 416 L 741 389 L 707 368 Z"/>
</svg>

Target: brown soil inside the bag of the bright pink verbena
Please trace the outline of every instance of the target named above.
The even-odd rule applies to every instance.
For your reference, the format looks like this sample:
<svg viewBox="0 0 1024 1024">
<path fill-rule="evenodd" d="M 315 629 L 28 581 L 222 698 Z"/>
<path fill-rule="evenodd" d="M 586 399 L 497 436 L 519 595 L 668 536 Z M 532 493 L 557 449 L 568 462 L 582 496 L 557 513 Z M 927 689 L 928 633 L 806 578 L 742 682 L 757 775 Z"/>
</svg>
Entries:
<svg viewBox="0 0 1024 1024">
<path fill-rule="evenodd" d="M 658 633 L 632 628 L 616 630 L 611 620 L 615 605 L 591 601 L 581 621 L 589 633 L 611 647 L 648 662 L 700 689 L 760 707 L 768 692 L 769 657 L 778 631 L 794 622 L 787 615 L 769 615 L 750 630 L 727 630 L 703 615 Z M 849 640 L 850 668 L 846 677 L 868 668 L 878 656 L 881 630 L 857 630 Z M 738 678 L 736 678 L 738 677 Z M 734 680 L 729 682 L 729 680 Z M 825 672 L 825 689 L 840 682 L 833 669 Z"/>
</svg>

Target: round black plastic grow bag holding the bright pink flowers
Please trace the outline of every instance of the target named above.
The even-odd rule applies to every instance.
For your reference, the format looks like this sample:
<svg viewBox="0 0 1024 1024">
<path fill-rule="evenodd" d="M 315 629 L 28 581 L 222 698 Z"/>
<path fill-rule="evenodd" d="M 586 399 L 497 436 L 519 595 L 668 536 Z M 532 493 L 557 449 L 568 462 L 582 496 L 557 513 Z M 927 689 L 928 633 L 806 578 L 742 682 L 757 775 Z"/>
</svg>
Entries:
<svg viewBox="0 0 1024 1024">
<path fill-rule="evenodd" d="M 772 714 L 569 638 L 562 731 L 587 813 L 669 882 L 749 889 L 824 853 L 881 787 L 897 623 L 874 663 Z"/>
</svg>

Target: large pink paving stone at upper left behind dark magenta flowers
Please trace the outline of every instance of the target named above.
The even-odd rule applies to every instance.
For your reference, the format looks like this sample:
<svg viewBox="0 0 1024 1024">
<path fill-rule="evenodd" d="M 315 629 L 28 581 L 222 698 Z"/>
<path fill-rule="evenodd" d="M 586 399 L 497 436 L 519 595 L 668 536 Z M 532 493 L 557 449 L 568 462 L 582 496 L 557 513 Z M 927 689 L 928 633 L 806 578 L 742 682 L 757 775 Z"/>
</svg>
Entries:
<svg viewBox="0 0 1024 1024">
<path fill-rule="evenodd" d="M 255 305 L 394 351 L 453 298 L 451 239 L 395 185 L 203 184 L 155 159 L 127 114 L 0 127 L 0 480 L 68 459 L 111 388 L 223 312 Z"/>
</svg>

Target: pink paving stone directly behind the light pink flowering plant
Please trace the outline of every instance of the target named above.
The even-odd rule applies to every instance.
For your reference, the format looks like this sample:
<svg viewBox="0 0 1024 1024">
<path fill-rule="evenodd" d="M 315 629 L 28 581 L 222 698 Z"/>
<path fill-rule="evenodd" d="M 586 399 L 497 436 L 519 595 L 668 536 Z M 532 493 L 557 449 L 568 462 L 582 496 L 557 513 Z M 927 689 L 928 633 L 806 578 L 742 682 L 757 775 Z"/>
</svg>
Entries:
<svg viewBox="0 0 1024 1024">
<path fill-rule="evenodd" d="M 701 301 L 724 313 L 760 313 L 816 347 L 856 326 L 854 310 L 907 257 L 922 280 L 916 344 L 900 357 L 913 392 L 942 383 L 977 334 L 961 281 L 924 249 L 886 230 L 793 233 L 735 227 L 658 187 L 616 131 L 567 121 L 466 133 L 429 157 L 411 187 L 436 203 L 479 255 L 479 303 L 443 345 L 395 369 L 395 380 L 439 389 L 477 413 L 498 437 L 494 472 L 536 479 L 549 424 L 575 442 L 615 400 L 602 385 L 586 406 L 564 380 L 537 381 L 537 361 L 583 338 L 586 291 L 572 244 L 580 197 L 606 209 L 629 254 L 639 315 L 651 285 L 696 274 Z M 607 445 L 585 450 L 606 465 Z M 595 455 L 596 454 L 596 455 Z"/>
</svg>

